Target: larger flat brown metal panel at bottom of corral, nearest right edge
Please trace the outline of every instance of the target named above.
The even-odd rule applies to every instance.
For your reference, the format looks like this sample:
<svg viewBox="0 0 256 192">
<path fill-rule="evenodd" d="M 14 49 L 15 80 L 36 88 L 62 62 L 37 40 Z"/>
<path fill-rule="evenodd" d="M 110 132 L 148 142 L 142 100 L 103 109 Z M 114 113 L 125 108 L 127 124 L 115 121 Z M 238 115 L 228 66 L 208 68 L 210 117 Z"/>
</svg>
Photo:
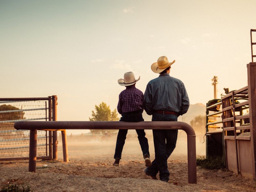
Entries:
<svg viewBox="0 0 256 192">
<path fill-rule="evenodd" d="M 237 140 L 239 171 L 244 177 L 253 179 L 250 140 Z"/>
</svg>

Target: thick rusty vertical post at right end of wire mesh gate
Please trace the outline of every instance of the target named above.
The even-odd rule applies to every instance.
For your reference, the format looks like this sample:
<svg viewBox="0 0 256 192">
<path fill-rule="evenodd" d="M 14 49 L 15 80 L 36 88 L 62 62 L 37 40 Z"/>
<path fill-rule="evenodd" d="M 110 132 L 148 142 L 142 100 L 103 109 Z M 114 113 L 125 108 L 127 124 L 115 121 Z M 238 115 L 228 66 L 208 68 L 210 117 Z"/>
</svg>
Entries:
<svg viewBox="0 0 256 192">
<path fill-rule="evenodd" d="M 52 95 L 52 121 L 57 121 L 57 96 Z M 58 133 L 52 132 L 52 158 L 58 160 Z"/>
</svg>

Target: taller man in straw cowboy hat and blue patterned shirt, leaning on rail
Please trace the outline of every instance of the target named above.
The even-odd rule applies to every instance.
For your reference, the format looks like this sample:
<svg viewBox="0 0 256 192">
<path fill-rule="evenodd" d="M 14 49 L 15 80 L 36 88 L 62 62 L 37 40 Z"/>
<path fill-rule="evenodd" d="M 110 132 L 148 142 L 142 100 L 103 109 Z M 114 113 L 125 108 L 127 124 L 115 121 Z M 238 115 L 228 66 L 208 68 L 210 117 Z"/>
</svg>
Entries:
<svg viewBox="0 0 256 192">
<path fill-rule="evenodd" d="M 178 116 L 185 114 L 189 108 L 188 94 L 184 84 L 170 76 L 171 65 L 167 57 L 159 57 L 151 65 L 151 70 L 160 73 L 159 77 L 148 82 L 144 93 L 144 110 L 152 115 L 152 121 L 177 121 Z M 152 166 L 145 169 L 145 173 L 152 179 L 168 182 L 170 173 L 167 159 L 176 147 L 178 130 L 153 130 L 155 160 Z"/>
</svg>

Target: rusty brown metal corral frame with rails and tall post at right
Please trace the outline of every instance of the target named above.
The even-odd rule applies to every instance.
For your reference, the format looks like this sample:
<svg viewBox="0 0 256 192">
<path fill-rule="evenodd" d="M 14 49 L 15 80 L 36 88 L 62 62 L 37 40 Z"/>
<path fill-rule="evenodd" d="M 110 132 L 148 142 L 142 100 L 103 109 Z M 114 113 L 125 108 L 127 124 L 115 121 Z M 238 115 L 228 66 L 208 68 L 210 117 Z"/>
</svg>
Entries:
<svg viewBox="0 0 256 192">
<path fill-rule="evenodd" d="M 241 166 L 246 166 L 244 163 L 241 163 L 241 158 L 244 158 L 244 156 L 241 154 L 241 150 L 239 150 L 239 156 L 238 156 L 238 141 L 240 140 L 246 140 L 250 142 L 251 146 L 251 154 L 252 154 L 252 178 L 256 179 L 255 177 L 255 159 L 256 159 L 256 151 L 255 151 L 255 146 L 256 146 L 256 130 L 253 129 L 253 124 L 256 124 L 255 121 L 255 116 L 256 116 L 256 97 L 255 97 L 255 89 L 256 89 L 256 63 L 249 63 L 247 64 L 247 70 L 248 70 L 248 86 L 245 86 L 239 90 L 232 91 L 222 97 L 222 111 L 223 111 L 223 132 L 224 132 L 224 140 L 225 140 L 225 151 L 226 151 L 226 159 L 227 157 L 227 141 L 228 140 L 233 140 L 234 145 L 235 145 L 235 155 L 236 155 L 236 165 L 233 162 L 233 165 L 236 166 L 236 170 L 233 170 L 237 174 L 241 172 Z M 244 102 L 235 103 L 235 100 L 237 98 L 242 97 Z M 231 105 L 231 100 L 232 99 L 232 105 Z M 248 99 L 248 100 L 247 100 Z M 241 113 L 242 110 L 247 109 L 249 105 L 249 110 L 250 113 L 249 115 L 243 115 Z M 244 107 L 244 108 L 242 108 Z M 240 108 L 240 110 L 238 110 Z M 240 112 L 240 115 L 235 115 L 235 112 Z M 242 124 L 242 119 L 250 118 L 250 124 Z M 237 120 L 240 120 L 240 126 L 236 125 Z M 246 130 L 250 129 L 250 136 L 240 136 L 239 134 L 237 135 L 237 130 Z M 228 131 L 233 131 L 232 135 L 228 135 Z M 230 141 L 229 141 L 230 142 Z M 239 147 L 240 148 L 240 147 Z M 232 158 L 231 158 L 232 159 Z M 239 161 L 240 159 L 240 161 Z M 228 159 L 226 160 L 227 162 L 227 168 L 228 166 Z M 243 161 L 244 162 L 244 161 Z M 248 163 L 248 162 L 246 162 Z M 251 164 L 250 164 L 251 165 Z M 244 170 L 243 170 L 244 171 Z M 246 172 L 244 172 L 246 174 Z M 251 173 L 249 173 L 251 174 Z M 250 177 L 251 177 L 250 176 Z"/>
</svg>

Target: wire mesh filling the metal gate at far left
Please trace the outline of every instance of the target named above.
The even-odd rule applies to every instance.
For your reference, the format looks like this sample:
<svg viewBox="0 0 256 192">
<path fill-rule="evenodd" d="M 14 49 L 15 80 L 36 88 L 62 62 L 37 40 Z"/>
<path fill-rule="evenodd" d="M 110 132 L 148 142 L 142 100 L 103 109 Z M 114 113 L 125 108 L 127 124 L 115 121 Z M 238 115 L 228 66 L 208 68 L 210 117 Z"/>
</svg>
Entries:
<svg viewBox="0 0 256 192">
<path fill-rule="evenodd" d="M 16 130 L 17 121 L 49 120 L 48 100 L 0 101 L 0 159 L 29 156 L 29 131 Z M 37 131 L 37 156 L 47 156 L 47 132 Z"/>
</svg>

